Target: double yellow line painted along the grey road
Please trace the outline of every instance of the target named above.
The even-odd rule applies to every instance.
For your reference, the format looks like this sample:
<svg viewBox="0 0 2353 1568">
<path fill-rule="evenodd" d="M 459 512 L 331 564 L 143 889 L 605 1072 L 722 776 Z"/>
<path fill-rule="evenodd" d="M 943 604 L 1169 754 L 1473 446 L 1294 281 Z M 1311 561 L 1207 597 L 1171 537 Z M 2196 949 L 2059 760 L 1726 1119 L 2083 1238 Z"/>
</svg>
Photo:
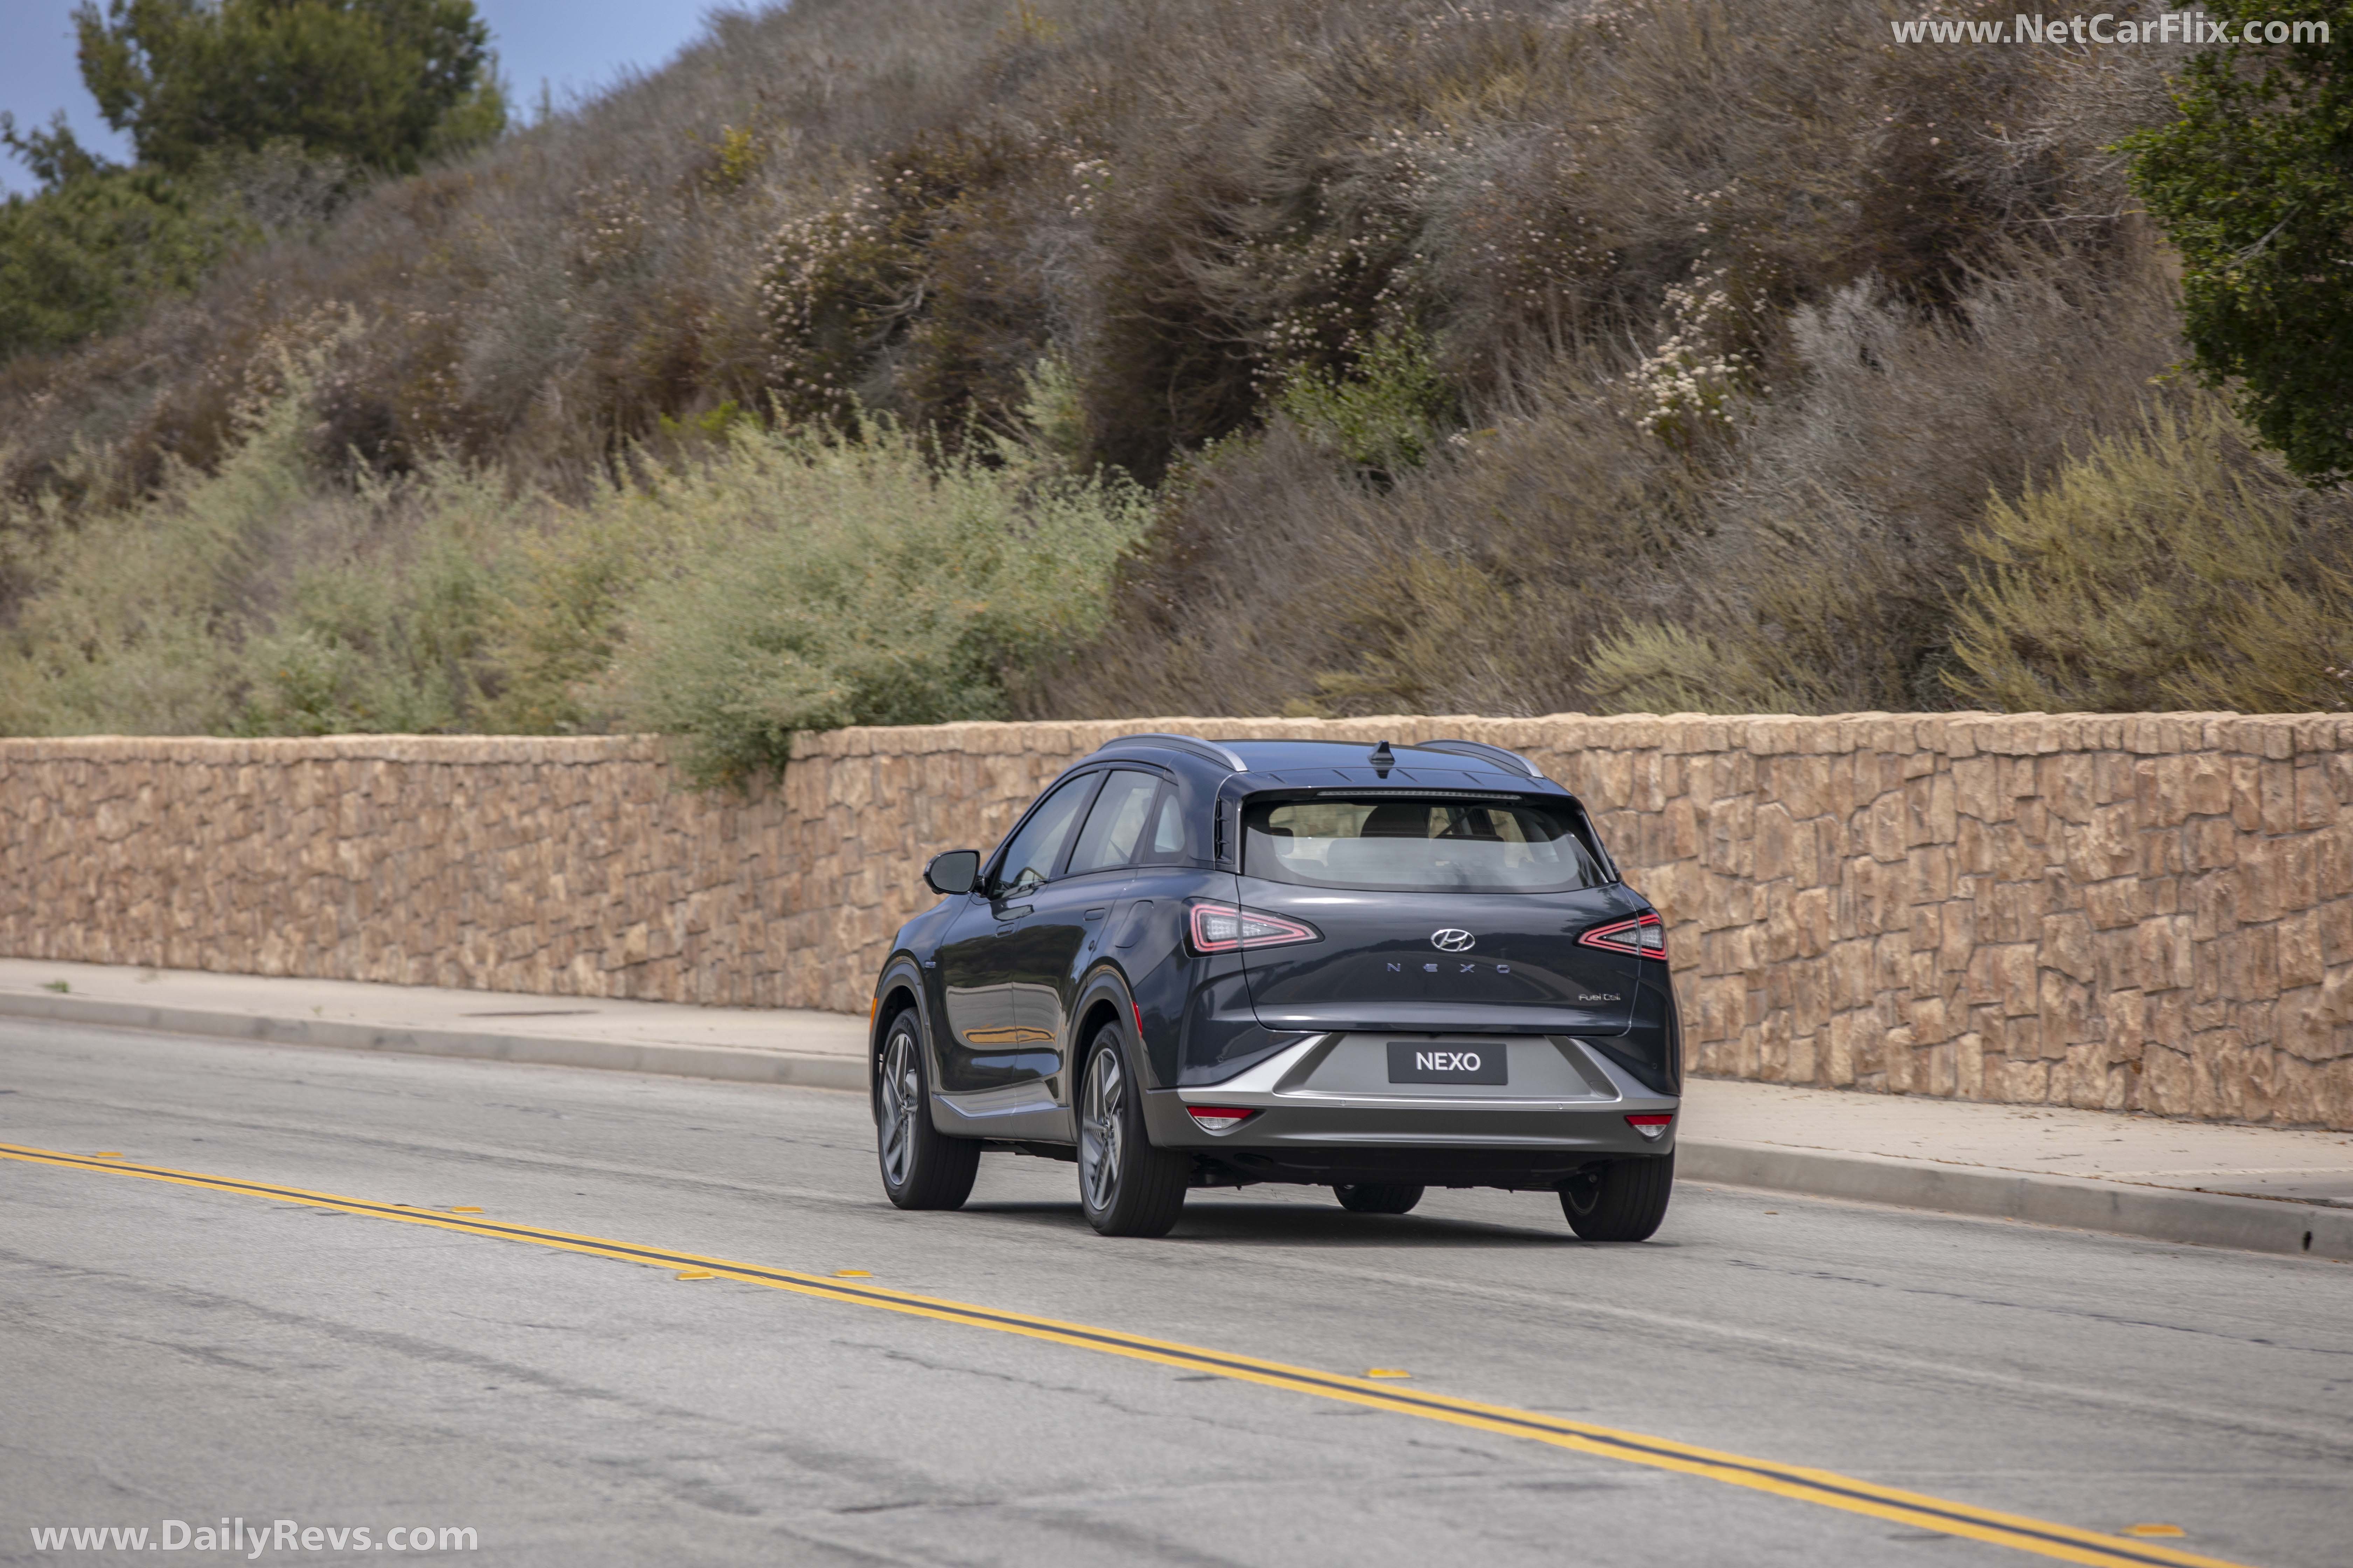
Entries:
<svg viewBox="0 0 2353 1568">
<path fill-rule="evenodd" d="M 1200 1349 L 1198 1345 L 1146 1340 L 1144 1335 L 1120 1333 L 1115 1328 L 1066 1324 L 1061 1319 L 1031 1316 L 1026 1312 L 998 1312 L 993 1307 L 974 1307 L 969 1302 L 953 1302 L 934 1295 L 908 1295 L 904 1291 L 885 1291 L 880 1286 L 828 1279 L 824 1274 L 772 1269 L 755 1262 L 739 1262 L 734 1258 L 704 1258 L 701 1253 L 678 1253 L 659 1246 L 631 1246 L 628 1241 L 612 1241 L 607 1237 L 581 1237 L 536 1225 L 511 1225 L 504 1220 L 485 1220 L 435 1208 L 409 1208 L 407 1204 L 372 1204 L 367 1199 L 339 1197 L 334 1192 L 280 1187 L 275 1182 L 240 1182 L 226 1175 L 169 1171 L 162 1166 L 139 1166 L 122 1159 L 94 1159 L 87 1154 L 61 1154 L 56 1150 L 33 1150 L 12 1143 L 0 1143 L 0 1159 L 59 1166 L 68 1171 L 106 1171 L 111 1175 L 172 1182 L 176 1187 L 233 1192 L 240 1197 L 275 1199 L 282 1204 L 308 1204 L 341 1213 L 374 1215 L 379 1220 L 400 1220 L 402 1225 L 431 1225 L 435 1229 L 456 1229 L 468 1237 L 529 1241 L 532 1246 L 553 1246 L 567 1253 L 588 1253 L 593 1258 L 619 1258 L 624 1262 L 645 1262 L 664 1269 L 708 1272 L 720 1279 L 741 1279 L 744 1284 L 772 1286 L 798 1295 L 819 1295 L 826 1300 L 854 1302 L 859 1307 L 880 1307 L 882 1312 L 929 1316 L 944 1324 L 967 1324 L 972 1328 L 1019 1333 L 1031 1340 L 1052 1340 L 1056 1345 L 1075 1345 L 1080 1349 L 1096 1349 L 1111 1356 L 1158 1361 L 1160 1366 L 1176 1366 L 1191 1373 L 1261 1382 L 1271 1389 L 1289 1389 L 1294 1394 L 1313 1394 L 1318 1399 L 1339 1399 L 1372 1410 L 1388 1410 L 1393 1415 L 1417 1415 L 1421 1420 L 1438 1420 L 1452 1427 L 1473 1427 L 1478 1432 L 1520 1436 L 1537 1443 L 1551 1443 L 1553 1448 L 1600 1455 L 1605 1460 L 1626 1460 L 1628 1465 L 1649 1465 L 1652 1469 L 1706 1476 L 1711 1481 L 1725 1481 L 1727 1486 L 1746 1486 L 1748 1490 L 1795 1497 L 1800 1502 L 1814 1502 L 1847 1514 L 1868 1514 L 1871 1519 L 1887 1519 L 1920 1530 L 1984 1540 L 1995 1547 L 2012 1547 L 2017 1552 L 2031 1552 L 2064 1563 L 2092 1563 L 2094 1568 L 2240 1568 L 2238 1563 L 2226 1563 L 2214 1556 L 2174 1552 L 2169 1547 L 2122 1540 L 2099 1530 L 2078 1530 L 2075 1526 L 2052 1523 L 2047 1519 L 2002 1514 L 1998 1509 L 1981 1509 L 1967 1502 L 1948 1502 L 1925 1493 L 1875 1486 L 1831 1469 L 1779 1465 L 1774 1460 L 1755 1460 L 1739 1453 L 1725 1453 L 1720 1448 L 1675 1443 L 1642 1432 L 1619 1432 L 1617 1427 L 1595 1427 L 1588 1422 L 1560 1420 L 1558 1415 L 1515 1410 L 1511 1406 L 1447 1399 L 1445 1394 L 1424 1394 L 1362 1378 L 1320 1373 L 1306 1366 L 1285 1366 L 1282 1361 L 1259 1361 L 1254 1356 Z"/>
</svg>

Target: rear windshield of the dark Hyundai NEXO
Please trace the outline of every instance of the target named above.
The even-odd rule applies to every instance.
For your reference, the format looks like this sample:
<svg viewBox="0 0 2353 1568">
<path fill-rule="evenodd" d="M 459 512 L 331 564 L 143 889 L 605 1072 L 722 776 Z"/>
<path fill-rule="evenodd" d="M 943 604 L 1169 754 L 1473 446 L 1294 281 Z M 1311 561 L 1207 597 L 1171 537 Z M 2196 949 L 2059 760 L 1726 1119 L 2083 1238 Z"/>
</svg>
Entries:
<svg viewBox="0 0 2353 1568">
<path fill-rule="evenodd" d="M 1252 799 L 1242 872 L 1398 893 L 1562 893 L 1602 872 L 1567 806 L 1529 799 Z"/>
</svg>

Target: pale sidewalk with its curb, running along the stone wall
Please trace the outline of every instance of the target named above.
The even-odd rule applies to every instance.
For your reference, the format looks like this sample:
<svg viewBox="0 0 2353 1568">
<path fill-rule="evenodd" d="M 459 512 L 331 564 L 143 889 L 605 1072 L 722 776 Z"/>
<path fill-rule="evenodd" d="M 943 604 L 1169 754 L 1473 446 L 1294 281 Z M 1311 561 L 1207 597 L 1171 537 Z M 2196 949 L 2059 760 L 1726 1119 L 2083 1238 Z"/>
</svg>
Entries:
<svg viewBox="0 0 2353 1568">
<path fill-rule="evenodd" d="M 0 959 L 0 1016 L 866 1088 L 847 1013 Z M 1678 1147 L 1694 1182 L 2353 1260 L 2353 1133 L 1694 1079 Z"/>
</svg>

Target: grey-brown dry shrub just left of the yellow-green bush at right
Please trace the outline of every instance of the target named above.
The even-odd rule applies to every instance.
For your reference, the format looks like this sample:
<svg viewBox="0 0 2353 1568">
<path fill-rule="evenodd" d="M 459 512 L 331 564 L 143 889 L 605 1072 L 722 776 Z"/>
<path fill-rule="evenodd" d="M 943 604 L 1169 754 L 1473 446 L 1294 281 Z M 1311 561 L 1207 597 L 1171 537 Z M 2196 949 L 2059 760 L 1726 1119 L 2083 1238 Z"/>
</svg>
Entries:
<svg viewBox="0 0 2353 1568">
<path fill-rule="evenodd" d="M 2009 256 L 1951 315 L 1871 282 L 1793 313 L 1758 409 L 1668 564 L 1661 614 L 1598 644 L 1602 710 L 1951 705 L 1951 599 L 1986 496 L 2137 425 L 2179 355 L 2155 259 Z"/>
</svg>

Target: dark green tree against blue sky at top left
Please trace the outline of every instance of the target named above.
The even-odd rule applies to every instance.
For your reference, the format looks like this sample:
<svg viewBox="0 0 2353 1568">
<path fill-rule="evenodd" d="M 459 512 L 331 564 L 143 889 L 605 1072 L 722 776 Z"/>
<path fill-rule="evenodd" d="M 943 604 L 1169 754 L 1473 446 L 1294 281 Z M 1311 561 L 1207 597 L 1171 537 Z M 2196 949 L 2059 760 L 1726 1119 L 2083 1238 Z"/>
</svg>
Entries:
<svg viewBox="0 0 2353 1568">
<path fill-rule="evenodd" d="M 160 169 L 296 141 L 407 174 L 506 122 L 473 0 L 82 0 L 73 26 L 99 113 Z"/>
</svg>

